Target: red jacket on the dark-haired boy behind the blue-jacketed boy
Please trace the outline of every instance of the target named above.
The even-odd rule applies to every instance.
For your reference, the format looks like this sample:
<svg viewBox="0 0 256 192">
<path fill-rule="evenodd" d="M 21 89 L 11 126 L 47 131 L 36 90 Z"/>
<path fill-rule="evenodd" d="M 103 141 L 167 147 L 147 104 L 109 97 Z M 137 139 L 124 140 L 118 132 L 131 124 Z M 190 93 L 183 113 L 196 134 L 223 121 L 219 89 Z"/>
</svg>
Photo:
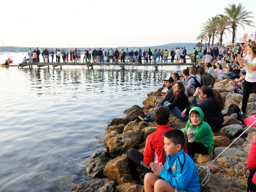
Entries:
<svg viewBox="0 0 256 192">
<path fill-rule="evenodd" d="M 164 142 L 162 135 L 173 128 L 170 128 L 170 125 L 158 126 L 157 131 L 151 133 L 147 137 L 146 146 L 144 150 L 144 163 L 146 166 L 149 166 L 151 162 L 156 162 L 162 164 L 165 163 L 166 156 L 164 151 Z M 188 153 L 186 144 L 184 145 L 184 151 Z"/>
</svg>

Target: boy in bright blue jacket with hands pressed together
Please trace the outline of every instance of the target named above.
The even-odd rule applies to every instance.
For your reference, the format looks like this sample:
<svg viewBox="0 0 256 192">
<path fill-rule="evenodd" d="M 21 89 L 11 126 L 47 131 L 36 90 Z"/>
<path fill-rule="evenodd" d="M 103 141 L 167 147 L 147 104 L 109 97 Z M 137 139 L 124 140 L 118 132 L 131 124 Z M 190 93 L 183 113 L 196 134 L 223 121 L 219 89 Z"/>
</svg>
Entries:
<svg viewBox="0 0 256 192">
<path fill-rule="evenodd" d="M 163 134 L 166 162 L 164 166 L 152 162 L 154 173 L 144 178 L 145 192 L 200 192 L 196 167 L 191 157 L 183 150 L 185 136 L 179 129 Z"/>
</svg>

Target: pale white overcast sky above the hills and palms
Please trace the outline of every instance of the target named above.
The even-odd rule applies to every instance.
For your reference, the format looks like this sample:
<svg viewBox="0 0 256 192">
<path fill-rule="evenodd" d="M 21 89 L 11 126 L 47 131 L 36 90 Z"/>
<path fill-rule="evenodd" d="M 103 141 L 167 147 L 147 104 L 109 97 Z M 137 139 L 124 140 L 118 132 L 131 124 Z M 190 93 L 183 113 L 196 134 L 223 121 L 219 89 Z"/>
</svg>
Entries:
<svg viewBox="0 0 256 192">
<path fill-rule="evenodd" d="M 256 0 L 3 0 L 0 40 L 4 46 L 70 48 L 194 43 L 202 23 L 239 2 L 256 22 Z M 255 32 L 239 26 L 236 37 L 254 38 Z M 231 39 L 227 33 L 223 43 Z"/>
</svg>

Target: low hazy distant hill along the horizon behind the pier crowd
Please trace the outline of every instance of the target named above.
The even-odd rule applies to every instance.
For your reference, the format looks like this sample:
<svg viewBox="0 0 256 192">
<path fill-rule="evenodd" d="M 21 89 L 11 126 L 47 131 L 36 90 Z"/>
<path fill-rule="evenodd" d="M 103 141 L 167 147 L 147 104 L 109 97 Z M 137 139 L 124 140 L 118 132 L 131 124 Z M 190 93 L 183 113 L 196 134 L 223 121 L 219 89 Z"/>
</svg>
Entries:
<svg viewBox="0 0 256 192">
<path fill-rule="evenodd" d="M 101 49 L 104 49 L 104 50 L 107 50 L 107 49 L 118 49 L 120 50 L 121 48 L 128 48 L 128 50 L 135 50 L 135 49 L 139 49 L 141 48 L 142 50 L 144 49 L 148 49 L 150 48 L 151 50 L 154 50 L 154 49 L 167 49 L 168 51 L 171 51 L 171 48 L 173 48 L 174 50 L 176 49 L 176 47 L 186 47 L 187 49 L 187 52 L 192 52 L 193 50 L 193 47 L 195 46 L 196 43 L 169 43 L 169 44 L 165 44 L 165 45 L 156 45 L 156 46 L 144 46 L 144 47 L 101 47 Z M 13 46 L 5 46 L 4 47 L 4 50 L 5 51 L 9 51 L 9 52 L 15 52 L 16 50 L 19 50 L 19 52 L 28 52 L 29 49 L 32 48 L 32 50 L 36 49 L 36 47 L 13 47 Z M 73 47 L 70 47 L 70 49 L 73 48 Z M 99 47 L 77 47 L 79 50 L 87 50 L 89 48 L 91 49 L 99 49 Z M 44 48 L 41 47 L 41 50 L 43 50 Z M 51 47 L 48 47 L 48 50 L 51 50 L 51 49 L 56 49 L 55 48 L 51 48 Z M 68 47 L 60 47 L 58 49 L 64 49 L 64 50 L 67 50 Z"/>
</svg>

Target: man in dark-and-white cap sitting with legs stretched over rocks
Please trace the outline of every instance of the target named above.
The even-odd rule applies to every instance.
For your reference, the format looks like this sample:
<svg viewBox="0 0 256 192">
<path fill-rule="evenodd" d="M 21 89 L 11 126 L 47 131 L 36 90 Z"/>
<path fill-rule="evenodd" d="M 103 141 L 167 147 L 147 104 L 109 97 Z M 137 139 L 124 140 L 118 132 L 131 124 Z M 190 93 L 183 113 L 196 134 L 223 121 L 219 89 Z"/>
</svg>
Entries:
<svg viewBox="0 0 256 192">
<path fill-rule="evenodd" d="M 163 97 L 162 99 L 156 101 L 155 107 L 163 106 L 163 103 L 169 100 L 173 96 L 173 89 L 171 89 L 173 85 L 173 78 L 169 75 L 163 81 L 164 81 L 165 88 L 168 89 L 168 92 L 167 94 L 164 94 L 161 92 Z M 146 124 L 153 123 L 155 121 L 154 110 L 150 114 L 148 114 L 146 117 L 139 116 L 139 119 Z"/>
</svg>

